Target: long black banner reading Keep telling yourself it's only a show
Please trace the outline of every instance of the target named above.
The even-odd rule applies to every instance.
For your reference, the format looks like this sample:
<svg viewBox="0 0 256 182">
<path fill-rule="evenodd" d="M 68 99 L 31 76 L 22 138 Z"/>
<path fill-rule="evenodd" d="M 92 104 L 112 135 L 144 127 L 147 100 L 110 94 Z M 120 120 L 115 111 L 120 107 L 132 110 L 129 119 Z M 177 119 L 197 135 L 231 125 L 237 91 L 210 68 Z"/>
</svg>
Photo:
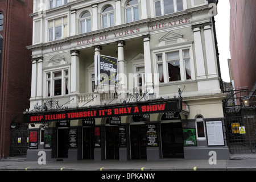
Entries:
<svg viewBox="0 0 256 182">
<path fill-rule="evenodd" d="M 163 104 L 129 105 L 129 106 L 109 106 L 89 109 L 76 109 L 59 111 L 56 113 L 27 113 L 23 117 L 24 123 L 46 123 L 59 121 L 69 121 L 73 119 L 110 118 L 122 115 L 144 115 L 151 113 L 166 113 L 179 111 L 178 102 L 166 102 Z M 62 123 L 62 122 L 61 122 Z M 65 123 L 65 122 L 64 122 Z"/>
</svg>

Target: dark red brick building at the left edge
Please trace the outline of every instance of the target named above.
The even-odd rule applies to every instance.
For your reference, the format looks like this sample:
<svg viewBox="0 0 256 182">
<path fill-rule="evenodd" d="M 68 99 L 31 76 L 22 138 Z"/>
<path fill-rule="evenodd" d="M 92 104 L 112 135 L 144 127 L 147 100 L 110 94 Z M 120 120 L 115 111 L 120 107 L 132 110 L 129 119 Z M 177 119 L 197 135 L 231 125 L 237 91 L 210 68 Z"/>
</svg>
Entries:
<svg viewBox="0 0 256 182">
<path fill-rule="evenodd" d="M 0 160 L 10 155 L 11 122 L 30 105 L 32 8 L 31 0 L 0 1 Z"/>
</svg>

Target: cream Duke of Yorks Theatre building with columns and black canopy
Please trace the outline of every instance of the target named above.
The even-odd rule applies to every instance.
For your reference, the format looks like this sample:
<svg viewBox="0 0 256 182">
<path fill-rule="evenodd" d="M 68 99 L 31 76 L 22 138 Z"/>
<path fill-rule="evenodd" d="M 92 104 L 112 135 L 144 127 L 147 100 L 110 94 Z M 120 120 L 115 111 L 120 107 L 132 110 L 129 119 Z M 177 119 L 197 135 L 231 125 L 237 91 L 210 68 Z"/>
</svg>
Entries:
<svg viewBox="0 0 256 182">
<path fill-rule="evenodd" d="M 34 0 L 27 160 L 228 159 L 215 7 Z"/>
</svg>

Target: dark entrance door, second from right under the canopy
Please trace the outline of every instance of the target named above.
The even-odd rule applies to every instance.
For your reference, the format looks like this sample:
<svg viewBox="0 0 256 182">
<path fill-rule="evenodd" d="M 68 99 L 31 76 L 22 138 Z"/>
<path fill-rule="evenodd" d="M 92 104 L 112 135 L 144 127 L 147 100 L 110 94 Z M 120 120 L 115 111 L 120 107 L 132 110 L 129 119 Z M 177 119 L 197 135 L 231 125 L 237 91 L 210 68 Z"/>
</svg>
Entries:
<svg viewBox="0 0 256 182">
<path fill-rule="evenodd" d="M 130 125 L 131 159 L 147 159 L 146 125 Z"/>
</svg>

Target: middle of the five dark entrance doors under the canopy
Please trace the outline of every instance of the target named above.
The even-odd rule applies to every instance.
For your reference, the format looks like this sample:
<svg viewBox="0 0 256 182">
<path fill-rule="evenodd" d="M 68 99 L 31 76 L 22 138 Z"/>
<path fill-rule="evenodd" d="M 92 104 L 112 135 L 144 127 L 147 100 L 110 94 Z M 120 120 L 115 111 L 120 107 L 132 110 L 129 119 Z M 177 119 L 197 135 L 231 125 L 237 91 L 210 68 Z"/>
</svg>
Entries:
<svg viewBox="0 0 256 182">
<path fill-rule="evenodd" d="M 106 127 L 106 159 L 119 159 L 119 127 Z"/>
</svg>

